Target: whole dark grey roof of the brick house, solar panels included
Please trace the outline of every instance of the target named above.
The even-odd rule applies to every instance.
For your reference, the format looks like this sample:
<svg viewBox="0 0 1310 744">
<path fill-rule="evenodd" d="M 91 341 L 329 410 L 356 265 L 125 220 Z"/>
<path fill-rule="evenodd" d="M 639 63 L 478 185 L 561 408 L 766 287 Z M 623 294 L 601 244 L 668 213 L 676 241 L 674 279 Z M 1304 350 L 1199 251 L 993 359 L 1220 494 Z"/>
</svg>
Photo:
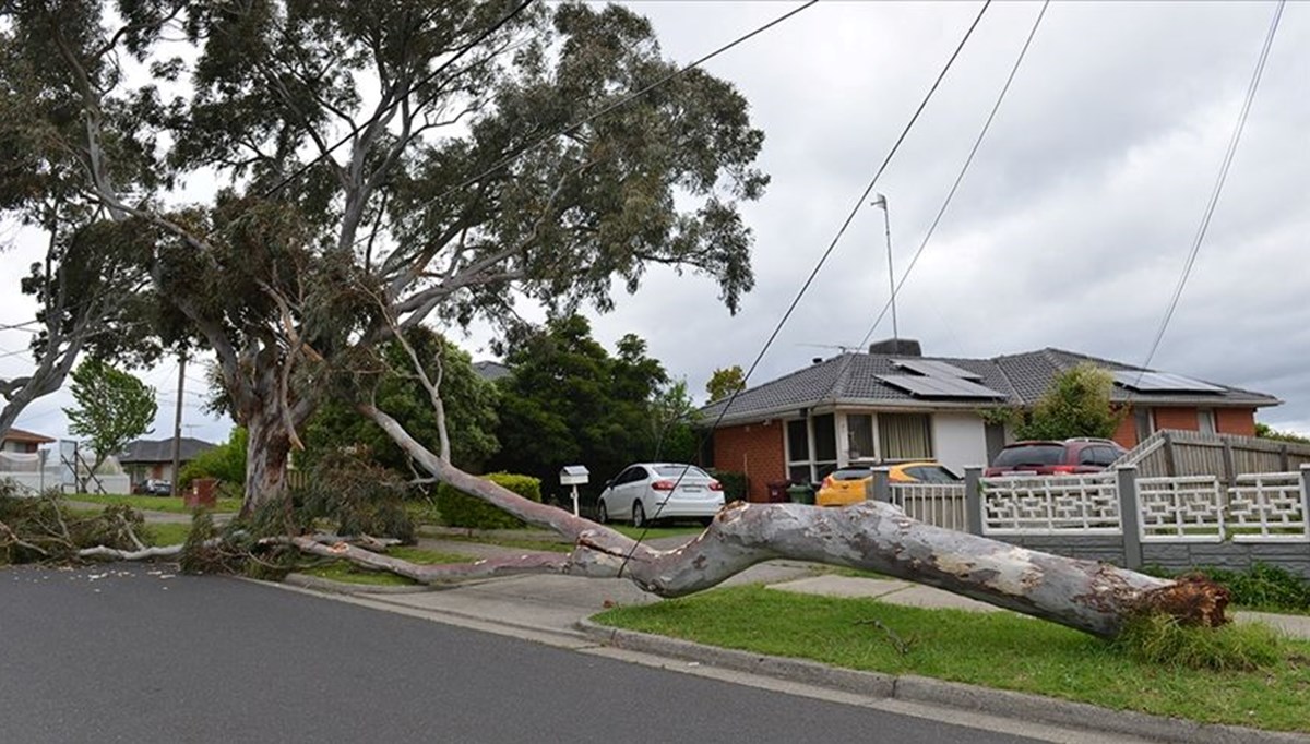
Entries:
<svg viewBox="0 0 1310 744">
<path fill-rule="evenodd" d="M 1058 348 L 992 359 L 846 352 L 743 390 L 735 400 L 713 402 L 701 409 L 701 414 L 703 420 L 713 422 L 718 420 L 719 414 L 727 407 L 722 420 L 741 422 L 795 414 L 800 409 L 817 405 L 934 410 L 976 410 L 997 405 L 1023 407 L 1035 403 L 1051 386 L 1056 375 L 1085 362 L 1112 372 L 1155 372 Z M 947 369 L 941 367 L 942 363 L 950 365 L 955 375 L 939 372 Z M 933 369 L 929 369 L 929 375 L 922 375 L 914 367 Z M 1179 376 L 1169 377 L 1188 380 Z M 945 379 L 947 382 L 945 386 L 929 384 L 930 379 L 938 381 Z M 963 385 L 959 380 L 971 385 Z M 1196 385 L 1191 390 L 1129 389 L 1133 382 L 1132 377 L 1125 376 L 1125 382 L 1115 385 L 1112 400 L 1142 405 L 1258 407 L 1281 403 L 1273 396 L 1200 380 L 1193 381 Z"/>
</svg>

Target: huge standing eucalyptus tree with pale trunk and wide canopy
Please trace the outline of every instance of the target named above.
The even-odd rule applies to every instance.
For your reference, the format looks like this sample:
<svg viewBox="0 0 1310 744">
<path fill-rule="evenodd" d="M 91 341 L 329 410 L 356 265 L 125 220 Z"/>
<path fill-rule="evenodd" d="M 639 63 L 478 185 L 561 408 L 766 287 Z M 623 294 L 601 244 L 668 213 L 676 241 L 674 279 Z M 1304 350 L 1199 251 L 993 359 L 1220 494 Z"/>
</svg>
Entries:
<svg viewBox="0 0 1310 744">
<path fill-rule="evenodd" d="M 24 96 L 63 102 L 30 126 L 75 124 L 42 147 L 75 152 L 77 193 L 149 237 L 159 322 L 217 358 L 249 430 L 246 510 L 282 491 L 324 397 L 426 321 L 498 320 L 516 297 L 605 309 L 612 284 L 633 291 L 656 263 L 711 276 L 730 309 L 752 286 L 738 204 L 766 183 L 762 134 L 730 84 L 671 77 L 630 10 L 17 0 L 4 13 L 7 43 L 41 60 Z M 152 179 L 121 176 L 135 162 Z"/>
</svg>

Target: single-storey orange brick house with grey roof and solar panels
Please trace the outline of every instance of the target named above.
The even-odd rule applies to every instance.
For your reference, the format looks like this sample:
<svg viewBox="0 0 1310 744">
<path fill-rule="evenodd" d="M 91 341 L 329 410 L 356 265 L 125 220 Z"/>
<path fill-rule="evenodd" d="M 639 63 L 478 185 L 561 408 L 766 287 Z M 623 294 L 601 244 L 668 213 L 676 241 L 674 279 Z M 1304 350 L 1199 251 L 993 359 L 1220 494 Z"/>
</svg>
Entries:
<svg viewBox="0 0 1310 744">
<path fill-rule="evenodd" d="M 817 482 L 855 461 L 933 458 L 962 472 L 1014 440 L 990 411 L 1031 407 L 1056 375 L 1089 362 L 1115 376 L 1112 401 L 1128 411 L 1115 440 L 1127 448 L 1161 428 L 1254 436 L 1255 410 L 1281 402 L 1058 348 L 948 359 L 897 339 L 705 406 L 701 420 L 718 426 L 702 464 L 745 473 L 752 500 L 766 500 L 769 482 Z"/>
</svg>

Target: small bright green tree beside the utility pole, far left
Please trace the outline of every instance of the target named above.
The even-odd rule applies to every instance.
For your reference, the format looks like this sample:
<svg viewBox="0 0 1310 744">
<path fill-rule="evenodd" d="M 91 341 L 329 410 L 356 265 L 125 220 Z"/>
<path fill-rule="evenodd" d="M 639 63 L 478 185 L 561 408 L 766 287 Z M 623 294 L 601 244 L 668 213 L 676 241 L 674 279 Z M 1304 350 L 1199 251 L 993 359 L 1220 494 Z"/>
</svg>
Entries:
<svg viewBox="0 0 1310 744">
<path fill-rule="evenodd" d="M 64 409 L 68 431 L 89 440 L 96 451 L 94 472 L 106 457 L 151 431 L 159 405 L 153 388 L 97 358 L 79 364 L 72 379 L 77 407 Z"/>
</svg>

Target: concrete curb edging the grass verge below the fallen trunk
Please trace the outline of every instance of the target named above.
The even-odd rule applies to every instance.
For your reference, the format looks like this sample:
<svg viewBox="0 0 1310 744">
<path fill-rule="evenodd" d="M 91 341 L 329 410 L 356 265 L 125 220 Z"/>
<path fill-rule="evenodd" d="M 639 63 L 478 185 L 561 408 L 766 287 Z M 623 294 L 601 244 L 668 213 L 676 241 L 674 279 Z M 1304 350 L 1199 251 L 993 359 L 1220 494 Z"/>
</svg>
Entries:
<svg viewBox="0 0 1310 744">
<path fill-rule="evenodd" d="M 1310 737 L 1303 734 L 1197 723 L 1195 720 L 1167 718 L 1163 715 L 1110 710 L 1083 702 L 997 690 L 912 675 L 897 677 L 878 672 L 842 669 L 803 659 L 768 656 L 749 651 L 705 646 L 664 635 L 608 627 L 586 618 L 578 621 L 578 629 L 592 641 L 629 651 L 713 664 L 736 672 L 803 682 L 875 698 L 929 703 L 1018 720 L 1188 744 L 1306 744 L 1310 741 Z"/>
</svg>

